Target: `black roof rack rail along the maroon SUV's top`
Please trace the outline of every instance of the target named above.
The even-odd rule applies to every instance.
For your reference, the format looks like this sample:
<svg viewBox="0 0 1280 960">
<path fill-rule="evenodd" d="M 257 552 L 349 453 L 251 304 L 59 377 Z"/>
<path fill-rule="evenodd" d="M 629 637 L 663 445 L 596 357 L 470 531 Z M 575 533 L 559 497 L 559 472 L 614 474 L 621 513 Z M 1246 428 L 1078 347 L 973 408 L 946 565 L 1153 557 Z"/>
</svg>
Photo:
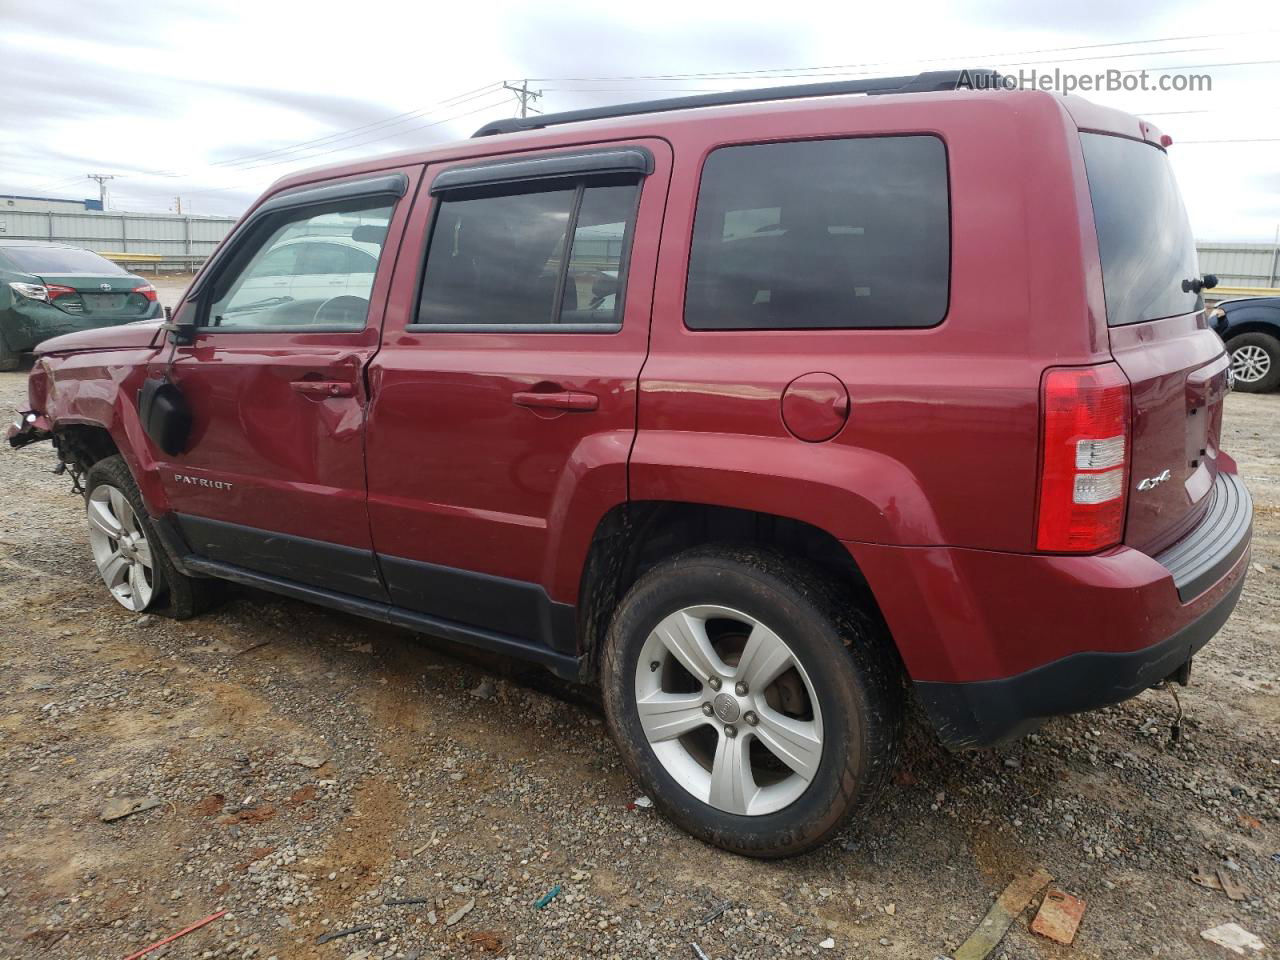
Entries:
<svg viewBox="0 0 1280 960">
<path fill-rule="evenodd" d="M 593 106 L 585 110 L 566 110 L 558 114 L 539 116 L 511 116 L 506 120 L 493 120 L 472 133 L 472 137 L 490 137 L 495 133 L 518 133 L 536 131 L 543 127 L 556 127 L 562 123 L 580 120 L 603 120 L 609 116 L 637 116 L 640 114 L 659 114 L 669 110 L 690 110 L 699 106 L 727 106 L 732 104 L 763 104 L 771 100 L 794 100 L 796 97 L 833 97 L 846 93 L 932 93 L 956 90 L 964 83 L 973 88 L 996 88 L 1000 74 L 992 69 L 973 70 L 928 70 L 914 77 L 874 77 L 860 81 L 836 81 L 833 83 L 792 83 L 786 87 L 759 87 L 756 90 L 730 90 L 723 93 L 701 93 L 691 97 L 669 97 L 667 100 L 641 100 L 634 104 L 614 104 L 613 106 Z"/>
</svg>

